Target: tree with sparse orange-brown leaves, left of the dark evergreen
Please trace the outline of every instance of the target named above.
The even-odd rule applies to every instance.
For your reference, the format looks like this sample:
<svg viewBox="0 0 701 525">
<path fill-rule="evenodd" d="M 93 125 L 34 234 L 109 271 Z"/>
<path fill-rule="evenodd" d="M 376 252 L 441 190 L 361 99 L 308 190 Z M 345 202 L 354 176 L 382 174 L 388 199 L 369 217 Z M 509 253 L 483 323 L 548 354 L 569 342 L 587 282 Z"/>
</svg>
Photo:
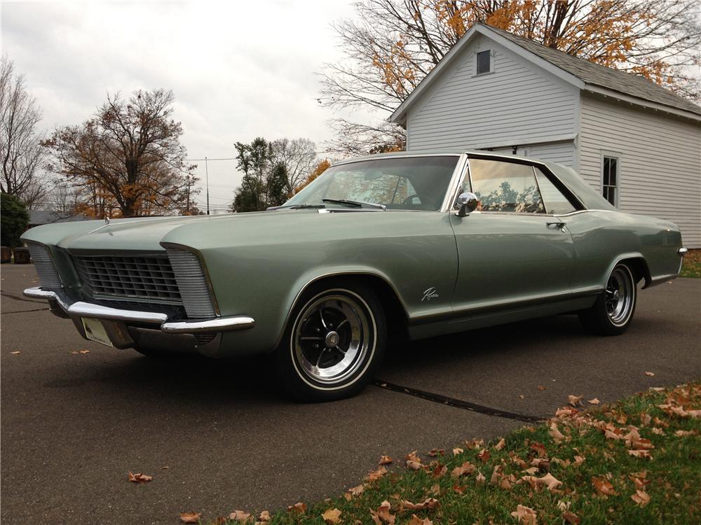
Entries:
<svg viewBox="0 0 701 525">
<path fill-rule="evenodd" d="M 60 127 L 43 144 L 50 168 L 80 189 L 84 213 L 123 217 L 177 213 L 186 208 L 195 165 L 180 144 L 171 91 L 137 91 L 107 102 L 80 126 Z"/>
</svg>

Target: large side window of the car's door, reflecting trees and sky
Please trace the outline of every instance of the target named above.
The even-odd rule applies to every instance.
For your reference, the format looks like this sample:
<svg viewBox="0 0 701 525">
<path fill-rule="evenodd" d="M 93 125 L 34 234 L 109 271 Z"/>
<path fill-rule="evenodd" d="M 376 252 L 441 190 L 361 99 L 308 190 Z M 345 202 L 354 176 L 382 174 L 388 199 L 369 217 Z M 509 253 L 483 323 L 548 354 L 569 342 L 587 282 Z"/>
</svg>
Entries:
<svg viewBox="0 0 701 525">
<path fill-rule="evenodd" d="M 533 167 L 515 162 L 470 159 L 472 193 L 477 209 L 544 214 Z"/>
</svg>

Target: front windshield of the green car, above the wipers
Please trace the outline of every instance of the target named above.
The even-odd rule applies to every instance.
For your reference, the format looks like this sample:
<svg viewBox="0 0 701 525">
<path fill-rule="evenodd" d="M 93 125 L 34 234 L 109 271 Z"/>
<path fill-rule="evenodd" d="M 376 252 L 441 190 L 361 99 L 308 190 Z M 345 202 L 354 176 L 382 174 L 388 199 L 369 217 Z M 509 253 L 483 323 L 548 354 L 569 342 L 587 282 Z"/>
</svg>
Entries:
<svg viewBox="0 0 701 525">
<path fill-rule="evenodd" d="M 439 211 L 458 157 L 396 157 L 330 167 L 285 207 L 346 200 L 387 209 Z M 324 199 L 327 202 L 324 202 Z"/>
</svg>

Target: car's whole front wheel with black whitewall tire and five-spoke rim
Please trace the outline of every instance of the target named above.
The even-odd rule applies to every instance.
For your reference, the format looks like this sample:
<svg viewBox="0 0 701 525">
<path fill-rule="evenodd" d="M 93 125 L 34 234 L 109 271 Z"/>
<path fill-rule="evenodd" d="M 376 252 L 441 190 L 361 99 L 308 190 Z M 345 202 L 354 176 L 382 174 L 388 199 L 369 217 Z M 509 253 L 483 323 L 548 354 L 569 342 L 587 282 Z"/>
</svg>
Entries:
<svg viewBox="0 0 701 525">
<path fill-rule="evenodd" d="M 374 376 L 385 341 L 384 312 L 371 288 L 352 281 L 313 286 L 275 351 L 278 373 L 299 400 L 348 398 Z"/>
</svg>

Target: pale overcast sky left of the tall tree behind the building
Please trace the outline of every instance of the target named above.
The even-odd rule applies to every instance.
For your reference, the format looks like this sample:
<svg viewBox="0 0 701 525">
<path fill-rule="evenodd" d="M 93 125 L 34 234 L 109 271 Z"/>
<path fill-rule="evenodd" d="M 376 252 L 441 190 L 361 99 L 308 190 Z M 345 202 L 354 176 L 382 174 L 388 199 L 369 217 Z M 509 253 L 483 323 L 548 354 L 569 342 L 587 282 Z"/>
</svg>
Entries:
<svg viewBox="0 0 701 525">
<path fill-rule="evenodd" d="M 330 24 L 353 16 L 350 1 L 0 3 L 2 53 L 25 73 L 46 131 L 82 123 L 107 92 L 164 87 L 193 159 L 231 158 L 235 141 L 258 136 L 318 149 L 332 136 L 315 73 L 341 57 Z M 223 208 L 236 162 L 208 165 L 210 204 Z"/>
</svg>

